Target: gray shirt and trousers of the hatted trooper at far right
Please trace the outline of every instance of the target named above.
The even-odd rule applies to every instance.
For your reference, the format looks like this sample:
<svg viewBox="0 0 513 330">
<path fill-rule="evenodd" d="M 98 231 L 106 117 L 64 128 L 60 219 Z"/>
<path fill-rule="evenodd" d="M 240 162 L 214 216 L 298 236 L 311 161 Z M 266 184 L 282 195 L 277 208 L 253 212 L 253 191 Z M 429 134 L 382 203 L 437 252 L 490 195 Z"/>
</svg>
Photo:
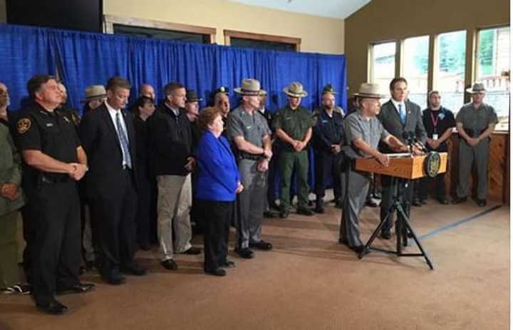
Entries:
<svg viewBox="0 0 513 330">
<path fill-rule="evenodd" d="M 475 109 L 472 103 L 462 106 L 456 116 L 456 124 L 461 123 L 463 129 L 470 138 L 477 138 L 490 124 L 497 123 L 497 113 L 491 105 L 482 103 Z M 469 195 L 469 177 L 472 170 L 472 163 L 476 164 L 477 170 L 477 198 L 486 200 L 488 192 L 488 158 L 490 138 L 480 140 L 474 147 L 467 144 L 465 139 L 460 139 L 458 150 L 458 185 L 456 187 L 457 197 Z"/>
</svg>

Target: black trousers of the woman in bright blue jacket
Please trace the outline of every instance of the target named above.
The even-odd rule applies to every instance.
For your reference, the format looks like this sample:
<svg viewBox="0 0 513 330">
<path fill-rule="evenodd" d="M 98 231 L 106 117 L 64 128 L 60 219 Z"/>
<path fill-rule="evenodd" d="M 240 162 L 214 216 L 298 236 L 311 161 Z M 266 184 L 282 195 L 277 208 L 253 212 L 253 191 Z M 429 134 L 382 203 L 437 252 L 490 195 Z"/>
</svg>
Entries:
<svg viewBox="0 0 513 330">
<path fill-rule="evenodd" d="M 234 202 L 198 200 L 204 220 L 204 269 L 214 270 L 226 262 Z"/>
</svg>

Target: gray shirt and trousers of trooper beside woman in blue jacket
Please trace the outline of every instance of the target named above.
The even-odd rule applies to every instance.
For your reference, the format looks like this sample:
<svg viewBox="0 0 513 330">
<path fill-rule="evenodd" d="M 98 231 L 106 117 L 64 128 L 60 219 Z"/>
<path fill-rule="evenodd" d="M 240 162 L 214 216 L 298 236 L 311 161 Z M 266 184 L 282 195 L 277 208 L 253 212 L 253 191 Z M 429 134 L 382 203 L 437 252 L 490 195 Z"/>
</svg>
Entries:
<svg viewBox="0 0 513 330">
<path fill-rule="evenodd" d="M 228 117 L 230 140 L 242 136 L 244 140 L 263 148 L 264 136 L 271 135 L 264 116 L 254 110 L 252 115 L 242 106 L 234 109 Z M 238 195 L 239 216 L 237 217 L 237 249 L 245 249 L 249 244 L 261 241 L 261 220 L 266 199 L 267 171 L 259 172 L 257 165 L 262 155 L 238 152 L 239 172 L 244 190 Z"/>
</svg>

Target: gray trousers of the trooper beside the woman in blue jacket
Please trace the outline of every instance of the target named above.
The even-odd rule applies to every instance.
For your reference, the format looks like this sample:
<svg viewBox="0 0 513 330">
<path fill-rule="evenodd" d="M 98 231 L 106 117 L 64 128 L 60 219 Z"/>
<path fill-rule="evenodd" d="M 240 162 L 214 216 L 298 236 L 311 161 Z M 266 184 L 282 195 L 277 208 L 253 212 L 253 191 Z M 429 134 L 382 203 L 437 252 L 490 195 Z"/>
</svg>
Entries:
<svg viewBox="0 0 513 330">
<path fill-rule="evenodd" d="M 237 195 L 239 216 L 237 217 L 237 248 L 249 247 L 249 243 L 260 242 L 261 220 L 264 217 L 267 171 L 257 170 L 258 160 L 239 160 L 239 172 L 244 190 Z"/>
</svg>

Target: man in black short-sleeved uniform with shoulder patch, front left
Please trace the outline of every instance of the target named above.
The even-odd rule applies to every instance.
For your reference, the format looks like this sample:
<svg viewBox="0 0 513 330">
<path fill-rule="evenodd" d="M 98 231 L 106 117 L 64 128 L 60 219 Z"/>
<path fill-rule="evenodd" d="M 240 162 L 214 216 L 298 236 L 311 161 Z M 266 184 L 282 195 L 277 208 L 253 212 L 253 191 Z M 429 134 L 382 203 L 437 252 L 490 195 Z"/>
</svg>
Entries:
<svg viewBox="0 0 513 330">
<path fill-rule="evenodd" d="M 24 160 L 24 191 L 33 216 L 33 297 L 48 314 L 67 307 L 56 293 L 87 292 L 93 284 L 78 280 L 81 258 L 80 204 L 76 181 L 87 158 L 72 121 L 54 111 L 61 103 L 56 78 L 33 76 L 27 83 L 33 100 L 16 122 L 16 142 Z"/>
</svg>

